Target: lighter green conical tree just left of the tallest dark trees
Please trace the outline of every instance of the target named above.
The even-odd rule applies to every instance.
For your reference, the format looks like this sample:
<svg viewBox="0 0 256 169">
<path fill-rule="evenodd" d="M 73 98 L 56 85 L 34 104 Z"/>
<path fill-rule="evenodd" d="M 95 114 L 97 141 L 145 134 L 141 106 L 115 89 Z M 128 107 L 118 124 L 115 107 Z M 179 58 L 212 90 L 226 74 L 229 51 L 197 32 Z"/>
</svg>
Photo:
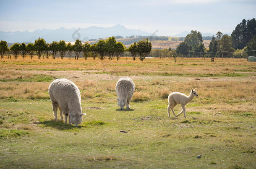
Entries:
<svg viewBox="0 0 256 169">
<path fill-rule="evenodd" d="M 222 59 L 223 59 L 223 56 L 230 57 L 235 50 L 231 47 L 231 40 L 229 35 L 227 34 L 223 35 L 220 42 L 221 42 L 221 49 L 222 49 Z"/>
</svg>

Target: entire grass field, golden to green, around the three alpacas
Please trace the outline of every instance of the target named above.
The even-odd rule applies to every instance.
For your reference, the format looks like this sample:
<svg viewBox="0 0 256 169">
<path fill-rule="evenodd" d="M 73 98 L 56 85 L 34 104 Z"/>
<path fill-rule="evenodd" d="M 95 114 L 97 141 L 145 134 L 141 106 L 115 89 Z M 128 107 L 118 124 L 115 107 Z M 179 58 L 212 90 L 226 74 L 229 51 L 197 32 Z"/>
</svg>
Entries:
<svg viewBox="0 0 256 169">
<path fill-rule="evenodd" d="M 120 111 L 115 83 L 125 76 L 136 91 L 131 109 Z M 81 91 L 87 115 L 78 127 L 53 121 L 48 86 L 56 78 L 68 78 Z M 169 119 L 168 94 L 188 95 L 196 87 L 187 118 Z M 255 105 L 256 65 L 246 60 L 4 58 L 0 168 L 252 169 Z"/>
</svg>

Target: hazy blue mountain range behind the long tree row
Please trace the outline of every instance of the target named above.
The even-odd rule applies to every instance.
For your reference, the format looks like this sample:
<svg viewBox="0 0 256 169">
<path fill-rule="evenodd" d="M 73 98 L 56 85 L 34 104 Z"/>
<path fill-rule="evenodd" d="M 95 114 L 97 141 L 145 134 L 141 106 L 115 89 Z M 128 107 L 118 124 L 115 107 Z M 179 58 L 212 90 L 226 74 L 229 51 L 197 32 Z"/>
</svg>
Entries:
<svg viewBox="0 0 256 169">
<path fill-rule="evenodd" d="M 80 39 L 82 41 L 89 39 L 98 39 L 110 36 L 131 36 L 131 35 L 142 35 L 148 36 L 151 33 L 148 33 L 143 30 L 138 29 L 128 29 L 123 25 L 115 25 L 110 28 L 104 27 L 96 27 L 91 26 L 88 28 L 59 28 L 55 30 L 50 29 L 37 29 L 32 32 L 24 31 L 24 32 L 2 32 L 0 31 L 0 39 L 5 40 L 9 43 L 21 43 L 21 42 L 34 42 L 35 39 L 41 37 L 44 38 L 46 42 L 52 41 L 75 41 L 76 39 Z"/>
</svg>

